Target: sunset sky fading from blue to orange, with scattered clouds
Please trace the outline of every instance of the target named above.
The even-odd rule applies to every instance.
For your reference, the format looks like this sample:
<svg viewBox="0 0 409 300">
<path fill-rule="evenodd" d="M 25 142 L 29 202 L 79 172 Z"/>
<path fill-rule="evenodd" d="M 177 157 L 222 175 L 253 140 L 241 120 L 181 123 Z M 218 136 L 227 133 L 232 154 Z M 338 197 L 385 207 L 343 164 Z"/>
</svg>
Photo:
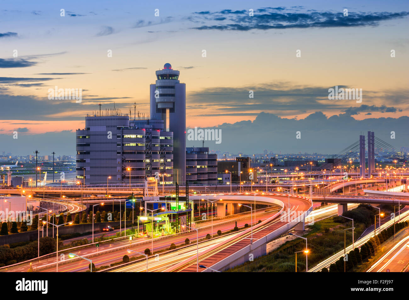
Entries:
<svg viewBox="0 0 409 300">
<path fill-rule="evenodd" d="M 408 147 L 408 25 L 407 1 L 0 0 L 0 151 L 74 155 L 99 103 L 148 113 L 167 62 L 187 129 L 221 129 L 212 150 L 337 153 L 368 130 Z M 55 86 L 82 101 L 49 100 Z M 335 86 L 362 102 L 329 100 Z"/>
</svg>

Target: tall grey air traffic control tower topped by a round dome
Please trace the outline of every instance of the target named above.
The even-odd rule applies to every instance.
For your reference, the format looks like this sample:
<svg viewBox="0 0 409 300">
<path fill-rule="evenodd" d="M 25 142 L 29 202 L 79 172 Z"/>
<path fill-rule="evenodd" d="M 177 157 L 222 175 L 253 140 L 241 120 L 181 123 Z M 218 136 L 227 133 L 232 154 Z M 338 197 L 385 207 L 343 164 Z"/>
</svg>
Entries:
<svg viewBox="0 0 409 300">
<path fill-rule="evenodd" d="M 164 130 L 173 131 L 173 176 L 179 184 L 186 181 L 186 84 L 180 71 L 166 63 L 156 71 L 151 84 L 151 119 L 164 120 Z M 176 177 L 174 177 L 176 179 Z"/>
</svg>

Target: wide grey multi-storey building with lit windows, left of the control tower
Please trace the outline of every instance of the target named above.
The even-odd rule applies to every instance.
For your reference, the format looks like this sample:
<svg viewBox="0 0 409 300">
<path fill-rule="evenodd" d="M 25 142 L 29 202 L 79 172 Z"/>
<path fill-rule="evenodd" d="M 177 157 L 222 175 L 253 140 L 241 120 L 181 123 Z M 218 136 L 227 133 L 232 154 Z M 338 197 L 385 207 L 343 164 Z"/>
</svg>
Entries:
<svg viewBox="0 0 409 300">
<path fill-rule="evenodd" d="M 163 120 L 130 120 L 109 113 L 85 118 L 76 131 L 76 178 L 85 184 L 173 182 L 173 132 Z"/>
</svg>

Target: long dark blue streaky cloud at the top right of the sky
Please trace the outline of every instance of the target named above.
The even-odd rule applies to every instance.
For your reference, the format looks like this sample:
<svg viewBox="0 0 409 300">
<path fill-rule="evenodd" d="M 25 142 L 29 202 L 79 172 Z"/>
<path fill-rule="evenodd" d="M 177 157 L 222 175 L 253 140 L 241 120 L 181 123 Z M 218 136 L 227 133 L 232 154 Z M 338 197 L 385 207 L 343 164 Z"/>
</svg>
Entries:
<svg viewBox="0 0 409 300">
<path fill-rule="evenodd" d="M 296 9 L 298 11 L 298 9 Z M 202 11 L 193 13 L 187 18 L 192 22 L 205 22 L 205 25 L 193 27 L 197 30 L 234 30 L 249 31 L 252 29 L 290 29 L 290 28 L 326 28 L 326 27 L 362 27 L 378 26 L 380 22 L 399 18 L 406 18 L 409 12 L 342 12 L 333 11 L 305 11 L 293 12 L 294 9 L 285 7 L 265 7 L 255 9 L 254 16 L 249 11 Z"/>
</svg>

